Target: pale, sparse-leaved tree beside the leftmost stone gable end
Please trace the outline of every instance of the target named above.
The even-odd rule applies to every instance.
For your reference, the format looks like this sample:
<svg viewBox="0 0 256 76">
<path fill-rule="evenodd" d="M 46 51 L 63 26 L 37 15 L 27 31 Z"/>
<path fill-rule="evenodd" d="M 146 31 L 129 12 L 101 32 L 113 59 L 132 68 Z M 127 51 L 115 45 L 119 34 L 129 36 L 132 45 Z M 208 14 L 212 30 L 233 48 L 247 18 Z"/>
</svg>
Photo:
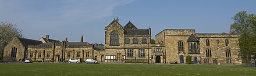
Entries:
<svg viewBox="0 0 256 76">
<path fill-rule="evenodd" d="M 16 24 L 9 23 L 8 21 L 0 21 L 0 60 L 2 60 L 5 46 L 12 38 L 22 37 L 22 35 L 22 30 Z"/>
</svg>

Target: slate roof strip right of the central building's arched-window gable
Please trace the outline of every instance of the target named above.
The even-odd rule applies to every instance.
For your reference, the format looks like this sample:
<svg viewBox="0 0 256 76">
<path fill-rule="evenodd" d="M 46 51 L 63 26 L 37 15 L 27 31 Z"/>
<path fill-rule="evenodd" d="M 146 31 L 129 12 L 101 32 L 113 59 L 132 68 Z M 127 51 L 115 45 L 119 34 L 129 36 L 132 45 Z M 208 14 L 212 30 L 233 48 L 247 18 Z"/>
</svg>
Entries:
<svg viewBox="0 0 256 76">
<path fill-rule="evenodd" d="M 150 35 L 150 29 L 125 29 L 125 35 Z"/>
</svg>

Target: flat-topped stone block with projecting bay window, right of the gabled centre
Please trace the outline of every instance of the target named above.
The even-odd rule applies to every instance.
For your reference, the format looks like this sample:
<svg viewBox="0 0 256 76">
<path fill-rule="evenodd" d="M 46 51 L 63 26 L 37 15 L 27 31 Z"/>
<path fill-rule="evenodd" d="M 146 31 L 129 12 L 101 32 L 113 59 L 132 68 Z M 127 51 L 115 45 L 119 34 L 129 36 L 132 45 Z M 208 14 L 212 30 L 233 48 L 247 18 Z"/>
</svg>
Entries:
<svg viewBox="0 0 256 76">
<path fill-rule="evenodd" d="M 239 38 L 236 34 L 198 34 L 195 30 L 166 29 L 156 36 L 163 46 L 161 63 L 241 64 Z"/>
</svg>

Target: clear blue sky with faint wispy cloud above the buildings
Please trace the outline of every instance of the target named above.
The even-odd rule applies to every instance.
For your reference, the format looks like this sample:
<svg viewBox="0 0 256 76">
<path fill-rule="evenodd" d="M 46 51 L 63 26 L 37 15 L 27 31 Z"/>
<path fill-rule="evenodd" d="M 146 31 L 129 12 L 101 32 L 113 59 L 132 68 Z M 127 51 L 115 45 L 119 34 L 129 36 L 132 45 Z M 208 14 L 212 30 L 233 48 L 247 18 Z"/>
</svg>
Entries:
<svg viewBox="0 0 256 76">
<path fill-rule="evenodd" d="M 115 17 L 125 26 L 152 29 L 195 29 L 196 33 L 229 32 L 240 11 L 256 14 L 255 0 L 0 0 L 0 21 L 23 30 L 24 38 L 49 35 L 59 41 L 104 44 L 105 30 Z"/>
</svg>

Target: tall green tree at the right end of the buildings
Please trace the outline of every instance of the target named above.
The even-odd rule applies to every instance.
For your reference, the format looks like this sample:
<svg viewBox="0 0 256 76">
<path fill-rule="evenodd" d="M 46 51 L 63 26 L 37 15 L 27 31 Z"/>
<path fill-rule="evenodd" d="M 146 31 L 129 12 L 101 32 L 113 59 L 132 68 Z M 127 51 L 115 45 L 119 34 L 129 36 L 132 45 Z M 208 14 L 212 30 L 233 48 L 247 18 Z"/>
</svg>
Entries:
<svg viewBox="0 0 256 76">
<path fill-rule="evenodd" d="M 236 13 L 232 19 L 234 23 L 230 25 L 230 33 L 239 35 L 239 45 L 241 55 L 246 63 L 251 61 L 253 52 L 253 17 L 254 14 L 247 14 L 246 11 Z"/>
</svg>

